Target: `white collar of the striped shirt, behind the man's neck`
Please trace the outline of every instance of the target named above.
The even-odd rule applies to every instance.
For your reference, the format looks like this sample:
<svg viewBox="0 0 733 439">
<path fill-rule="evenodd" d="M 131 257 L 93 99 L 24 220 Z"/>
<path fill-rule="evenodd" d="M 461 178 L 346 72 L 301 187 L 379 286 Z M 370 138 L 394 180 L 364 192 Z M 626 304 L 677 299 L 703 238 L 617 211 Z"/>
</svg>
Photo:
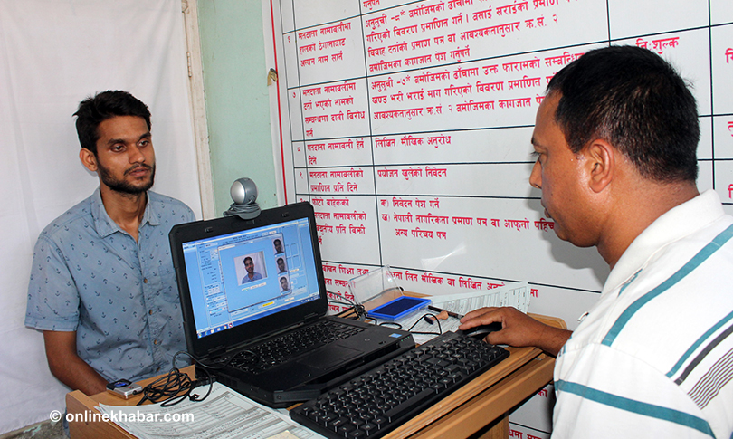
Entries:
<svg viewBox="0 0 733 439">
<path fill-rule="evenodd" d="M 699 230 L 724 214 L 718 193 L 712 189 L 671 208 L 633 240 L 608 275 L 603 293 L 614 291 L 630 280 L 663 246 Z"/>
</svg>

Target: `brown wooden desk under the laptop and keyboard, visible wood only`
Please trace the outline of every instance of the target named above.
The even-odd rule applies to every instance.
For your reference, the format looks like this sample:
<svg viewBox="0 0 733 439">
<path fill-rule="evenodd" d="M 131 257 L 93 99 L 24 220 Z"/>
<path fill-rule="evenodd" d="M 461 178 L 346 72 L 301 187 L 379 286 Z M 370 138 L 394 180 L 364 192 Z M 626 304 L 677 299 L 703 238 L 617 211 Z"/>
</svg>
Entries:
<svg viewBox="0 0 733 439">
<path fill-rule="evenodd" d="M 532 315 L 532 314 L 530 314 Z M 557 328 L 566 328 L 565 322 L 556 318 L 532 315 Z M 509 358 L 486 373 L 473 379 L 450 396 L 443 398 L 412 420 L 387 434 L 387 438 L 469 437 L 481 432 L 482 439 L 506 438 L 509 435 L 509 410 L 534 395 L 552 380 L 555 358 L 538 348 L 509 348 Z M 194 367 L 184 369 L 189 375 Z M 155 378 L 142 381 L 143 384 Z M 112 406 L 134 406 L 140 396 L 122 399 L 102 392 L 86 396 L 75 390 L 66 395 L 69 414 L 94 413 L 100 403 Z M 87 416 L 91 419 L 91 416 Z M 72 439 L 132 438 L 118 425 L 111 422 L 71 422 Z"/>
</svg>

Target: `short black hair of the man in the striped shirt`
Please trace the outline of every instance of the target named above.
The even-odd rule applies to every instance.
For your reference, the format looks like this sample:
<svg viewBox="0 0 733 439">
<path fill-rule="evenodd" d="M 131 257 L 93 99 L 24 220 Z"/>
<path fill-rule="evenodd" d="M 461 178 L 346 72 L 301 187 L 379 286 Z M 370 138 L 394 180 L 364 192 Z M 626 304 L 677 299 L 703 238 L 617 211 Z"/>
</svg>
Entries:
<svg viewBox="0 0 733 439">
<path fill-rule="evenodd" d="M 578 153 L 603 138 L 639 173 L 662 182 L 698 176 L 695 98 L 670 63 L 636 46 L 585 53 L 547 85 L 559 93 L 555 121 Z"/>
</svg>

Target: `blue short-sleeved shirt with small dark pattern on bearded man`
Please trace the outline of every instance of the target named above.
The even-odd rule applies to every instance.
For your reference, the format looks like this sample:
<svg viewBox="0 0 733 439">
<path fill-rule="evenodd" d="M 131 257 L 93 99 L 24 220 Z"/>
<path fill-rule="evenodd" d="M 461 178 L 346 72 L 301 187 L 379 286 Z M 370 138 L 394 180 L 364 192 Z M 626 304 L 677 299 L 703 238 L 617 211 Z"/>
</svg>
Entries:
<svg viewBox="0 0 733 439">
<path fill-rule="evenodd" d="M 76 331 L 79 357 L 108 381 L 168 370 L 186 349 L 168 232 L 191 221 L 187 205 L 148 191 L 136 243 L 98 188 L 38 237 L 25 326 Z"/>
</svg>

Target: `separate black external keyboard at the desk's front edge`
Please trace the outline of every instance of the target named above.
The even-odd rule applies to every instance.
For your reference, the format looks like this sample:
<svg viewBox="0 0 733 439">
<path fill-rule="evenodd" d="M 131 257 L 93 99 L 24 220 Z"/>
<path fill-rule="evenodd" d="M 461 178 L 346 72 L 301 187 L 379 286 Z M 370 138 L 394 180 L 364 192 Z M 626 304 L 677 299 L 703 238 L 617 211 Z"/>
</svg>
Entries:
<svg viewBox="0 0 733 439">
<path fill-rule="evenodd" d="M 509 351 L 454 332 L 290 410 L 329 438 L 381 437 L 495 366 Z"/>
</svg>

